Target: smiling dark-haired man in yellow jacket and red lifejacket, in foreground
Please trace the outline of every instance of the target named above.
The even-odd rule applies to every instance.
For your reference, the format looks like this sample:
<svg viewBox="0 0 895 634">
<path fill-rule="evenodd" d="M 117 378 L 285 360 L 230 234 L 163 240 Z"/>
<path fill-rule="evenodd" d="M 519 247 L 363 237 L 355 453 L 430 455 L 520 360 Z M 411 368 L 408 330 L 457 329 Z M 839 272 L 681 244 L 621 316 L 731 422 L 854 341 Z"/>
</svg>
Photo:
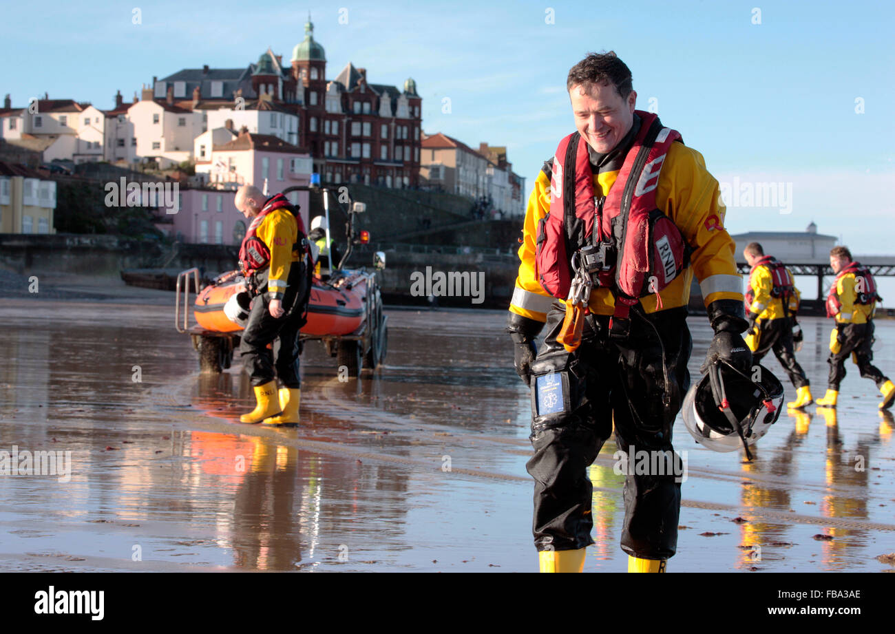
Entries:
<svg viewBox="0 0 895 634">
<path fill-rule="evenodd" d="M 715 333 L 703 367 L 752 364 L 735 243 L 702 155 L 635 111 L 631 73 L 612 52 L 575 64 L 567 89 L 577 133 L 535 180 L 507 325 L 533 390 L 526 467 L 542 571 L 583 570 L 593 544 L 585 470 L 613 424 L 619 450 L 673 451 L 694 275 Z M 664 571 L 678 542 L 679 478 L 628 474 L 624 499 L 628 570 Z"/>
</svg>

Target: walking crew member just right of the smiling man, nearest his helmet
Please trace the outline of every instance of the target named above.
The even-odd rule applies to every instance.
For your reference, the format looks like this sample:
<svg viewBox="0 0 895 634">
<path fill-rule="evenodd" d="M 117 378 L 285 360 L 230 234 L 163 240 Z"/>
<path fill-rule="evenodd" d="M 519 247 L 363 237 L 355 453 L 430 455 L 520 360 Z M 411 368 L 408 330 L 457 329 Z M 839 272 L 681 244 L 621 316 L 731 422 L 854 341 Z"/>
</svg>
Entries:
<svg viewBox="0 0 895 634">
<path fill-rule="evenodd" d="M 802 329 L 796 322 L 800 294 L 792 271 L 771 255 L 765 255 L 761 244 L 749 243 L 743 251 L 752 267 L 746 290 L 746 346 L 752 350 L 752 362 L 757 365 L 771 350 L 796 388 L 796 400 L 787 407 L 799 409 L 811 405 L 808 378 L 796 361 L 793 338 L 801 341 Z"/>
</svg>

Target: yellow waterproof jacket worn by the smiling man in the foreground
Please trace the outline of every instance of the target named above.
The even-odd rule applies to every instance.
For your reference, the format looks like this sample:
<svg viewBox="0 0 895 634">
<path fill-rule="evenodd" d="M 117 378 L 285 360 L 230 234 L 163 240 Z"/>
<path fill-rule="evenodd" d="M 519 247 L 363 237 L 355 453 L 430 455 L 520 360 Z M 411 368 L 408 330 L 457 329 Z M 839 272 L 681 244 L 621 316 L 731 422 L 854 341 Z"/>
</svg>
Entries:
<svg viewBox="0 0 895 634">
<path fill-rule="evenodd" d="M 548 163 L 548 166 L 551 165 L 552 160 Z M 618 170 L 594 175 L 594 195 L 602 193 L 605 196 L 609 193 L 617 177 Z M 621 183 L 618 186 L 624 185 Z M 686 242 L 694 249 L 690 255 L 690 266 L 659 294 L 662 310 L 683 306 L 690 301 L 690 284 L 694 274 L 706 306 L 719 299 L 744 301 L 743 279 L 737 273 L 734 259 L 736 245 L 723 227 L 726 209 L 720 200 L 718 181 L 705 168 L 702 154 L 683 143 L 671 144 L 659 175 L 656 205 L 678 226 Z M 541 170 L 525 211 L 523 242 L 519 247 L 519 274 L 509 306 L 513 313 L 541 322 L 547 321 L 550 304 L 555 301 L 541 287 L 534 261 L 538 221 L 549 211 L 550 176 Z M 657 309 L 655 294 L 643 297 L 640 303 L 646 313 Z M 593 289 L 590 301 L 592 313 L 609 315 L 614 307 L 615 301 L 609 288 Z"/>
</svg>

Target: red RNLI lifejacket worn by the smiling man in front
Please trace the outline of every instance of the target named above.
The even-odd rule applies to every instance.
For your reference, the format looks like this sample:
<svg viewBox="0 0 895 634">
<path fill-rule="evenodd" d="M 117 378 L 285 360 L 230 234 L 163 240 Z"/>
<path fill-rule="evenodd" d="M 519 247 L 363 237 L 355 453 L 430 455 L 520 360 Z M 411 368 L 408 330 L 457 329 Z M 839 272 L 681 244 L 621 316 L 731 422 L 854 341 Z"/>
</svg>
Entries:
<svg viewBox="0 0 895 634">
<path fill-rule="evenodd" d="M 586 141 L 577 132 L 559 141 L 550 212 L 538 223 L 535 255 L 541 287 L 566 299 L 574 276 L 572 255 L 588 244 L 602 245 L 609 256 L 592 279 L 595 286 L 611 289 L 615 316 L 622 319 L 640 297 L 667 287 L 689 263 L 689 245 L 656 206 L 662 164 L 671 143 L 683 141 L 676 130 L 662 127 L 658 116 L 642 110 L 635 114 L 640 130 L 603 198 L 594 195 Z"/>
</svg>

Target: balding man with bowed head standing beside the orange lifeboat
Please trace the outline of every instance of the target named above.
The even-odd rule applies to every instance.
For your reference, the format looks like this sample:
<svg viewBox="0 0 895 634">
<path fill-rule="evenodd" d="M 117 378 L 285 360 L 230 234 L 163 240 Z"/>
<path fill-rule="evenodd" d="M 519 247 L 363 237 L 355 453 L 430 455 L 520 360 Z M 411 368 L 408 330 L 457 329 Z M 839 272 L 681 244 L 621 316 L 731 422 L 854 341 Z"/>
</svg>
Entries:
<svg viewBox="0 0 895 634">
<path fill-rule="evenodd" d="M 302 381 L 298 338 L 311 296 L 308 242 L 299 210 L 282 193 L 267 198 L 243 185 L 236 209 L 251 220 L 239 250 L 246 287 L 254 297 L 239 346 L 257 405 L 243 423 L 298 423 Z M 268 344 L 278 342 L 277 360 Z M 275 373 L 276 368 L 276 373 Z M 276 377 L 282 383 L 277 395 Z"/>
</svg>

